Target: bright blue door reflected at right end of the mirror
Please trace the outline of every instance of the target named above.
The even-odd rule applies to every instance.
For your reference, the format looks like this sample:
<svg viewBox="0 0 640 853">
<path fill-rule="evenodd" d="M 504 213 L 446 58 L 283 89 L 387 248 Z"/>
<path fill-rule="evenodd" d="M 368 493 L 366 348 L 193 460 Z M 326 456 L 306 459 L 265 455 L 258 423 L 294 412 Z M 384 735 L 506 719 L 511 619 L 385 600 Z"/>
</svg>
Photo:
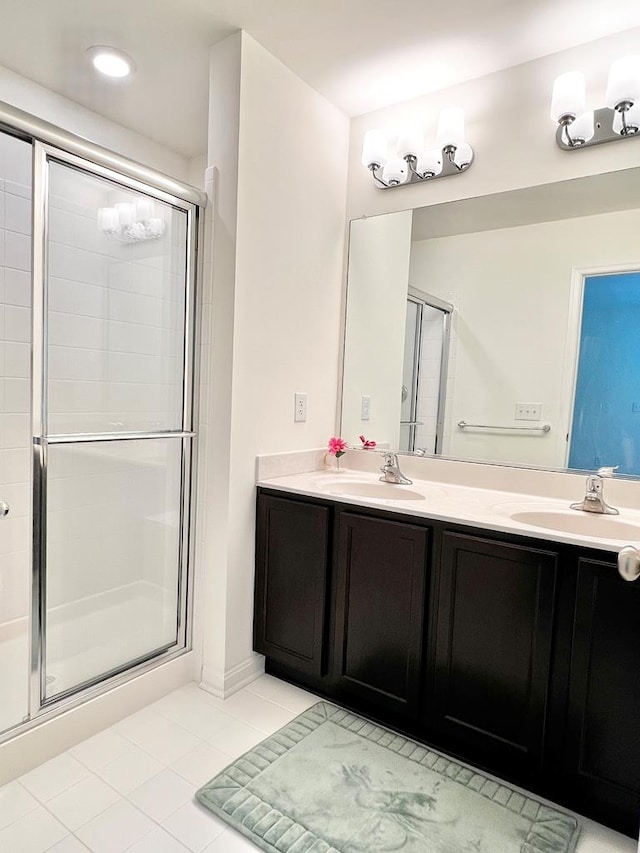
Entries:
<svg viewBox="0 0 640 853">
<path fill-rule="evenodd" d="M 584 282 L 569 468 L 640 474 L 640 272 Z"/>
</svg>

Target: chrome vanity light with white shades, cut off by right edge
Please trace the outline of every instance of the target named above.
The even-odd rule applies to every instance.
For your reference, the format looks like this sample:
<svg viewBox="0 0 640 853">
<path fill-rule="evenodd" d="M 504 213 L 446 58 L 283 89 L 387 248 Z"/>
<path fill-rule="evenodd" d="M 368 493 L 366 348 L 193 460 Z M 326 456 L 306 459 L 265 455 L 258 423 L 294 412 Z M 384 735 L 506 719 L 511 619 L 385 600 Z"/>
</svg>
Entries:
<svg viewBox="0 0 640 853">
<path fill-rule="evenodd" d="M 606 107 L 587 111 L 584 74 L 568 71 L 553 84 L 551 118 L 564 151 L 635 136 L 640 130 L 640 56 L 623 56 L 609 70 Z"/>
</svg>

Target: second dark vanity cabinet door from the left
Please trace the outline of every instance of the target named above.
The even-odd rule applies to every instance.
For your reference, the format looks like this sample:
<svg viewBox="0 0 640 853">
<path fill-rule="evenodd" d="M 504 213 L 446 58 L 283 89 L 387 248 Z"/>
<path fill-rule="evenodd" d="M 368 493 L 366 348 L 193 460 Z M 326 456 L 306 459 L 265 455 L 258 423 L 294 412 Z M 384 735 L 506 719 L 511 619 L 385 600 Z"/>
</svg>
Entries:
<svg viewBox="0 0 640 853">
<path fill-rule="evenodd" d="M 425 528 L 340 515 L 334 678 L 351 695 L 415 714 L 426 572 Z"/>
</svg>

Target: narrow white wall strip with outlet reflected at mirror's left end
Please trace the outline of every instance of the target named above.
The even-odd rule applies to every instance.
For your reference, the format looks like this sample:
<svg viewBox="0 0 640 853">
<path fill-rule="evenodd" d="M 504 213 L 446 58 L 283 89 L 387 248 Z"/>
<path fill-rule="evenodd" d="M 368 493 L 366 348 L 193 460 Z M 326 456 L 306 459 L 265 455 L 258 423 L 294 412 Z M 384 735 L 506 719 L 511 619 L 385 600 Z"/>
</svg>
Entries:
<svg viewBox="0 0 640 853">
<path fill-rule="evenodd" d="M 411 211 L 356 219 L 349 230 L 342 437 L 398 447 Z M 371 417 L 361 420 L 362 396 Z"/>
</svg>

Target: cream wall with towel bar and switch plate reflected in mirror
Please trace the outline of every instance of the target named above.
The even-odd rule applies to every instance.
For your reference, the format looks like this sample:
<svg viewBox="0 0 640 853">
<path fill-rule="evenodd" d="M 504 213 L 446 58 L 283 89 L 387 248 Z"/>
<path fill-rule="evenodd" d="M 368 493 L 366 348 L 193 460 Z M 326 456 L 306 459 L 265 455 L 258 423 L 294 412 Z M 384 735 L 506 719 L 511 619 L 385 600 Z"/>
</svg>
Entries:
<svg viewBox="0 0 640 853">
<path fill-rule="evenodd" d="M 640 210 L 412 244 L 411 280 L 452 299 L 444 452 L 564 467 L 575 352 L 567 351 L 574 270 L 640 268 Z M 575 322 L 577 318 L 572 318 Z M 546 436 L 456 428 L 514 424 L 516 402 L 542 403 Z M 532 424 L 535 425 L 535 424 Z"/>
</svg>

